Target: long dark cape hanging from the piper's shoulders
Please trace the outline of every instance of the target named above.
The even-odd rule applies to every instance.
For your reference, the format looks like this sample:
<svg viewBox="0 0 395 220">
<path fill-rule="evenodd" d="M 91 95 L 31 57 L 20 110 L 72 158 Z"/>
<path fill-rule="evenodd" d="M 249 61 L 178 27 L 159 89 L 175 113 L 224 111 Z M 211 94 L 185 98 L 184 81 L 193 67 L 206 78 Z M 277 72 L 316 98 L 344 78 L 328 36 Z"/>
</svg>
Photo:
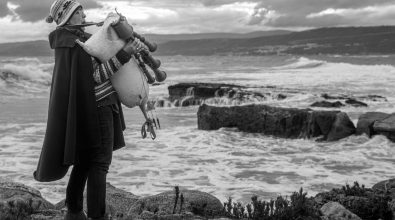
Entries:
<svg viewBox="0 0 395 220">
<path fill-rule="evenodd" d="M 49 35 L 50 46 L 55 49 L 55 66 L 44 144 L 33 174 L 40 182 L 63 178 L 79 149 L 101 145 L 92 59 L 75 43 L 76 39 L 84 42 L 87 37 L 82 31 L 64 28 Z M 124 130 L 122 109 L 120 121 Z M 122 130 L 115 132 L 115 149 L 124 146 Z M 117 144 L 120 136 L 121 144 Z"/>
</svg>

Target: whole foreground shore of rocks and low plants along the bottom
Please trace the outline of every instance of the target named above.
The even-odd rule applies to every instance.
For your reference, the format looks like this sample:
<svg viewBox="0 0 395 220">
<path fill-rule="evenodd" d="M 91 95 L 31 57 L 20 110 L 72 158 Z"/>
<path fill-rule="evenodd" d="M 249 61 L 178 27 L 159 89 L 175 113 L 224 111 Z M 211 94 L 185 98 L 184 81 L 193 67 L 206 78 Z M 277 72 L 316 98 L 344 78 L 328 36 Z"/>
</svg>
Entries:
<svg viewBox="0 0 395 220">
<path fill-rule="evenodd" d="M 41 193 L 15 182 L 0 182 L 0 219 L 60 220 L 66 211 L 64 201 L 51 204 Z M 107 213 L 113 220 L 131 219 L 382 219 L 395 217 L 395 179 L 372 188 L 354 183 L 308 197 L 301 189 L 288 197 L 250 204 L 222 203 L 201 191 L 179 189 L 139 197 L 107 184 Z M 85 201 L 86 203 L 86 201 Z M 86 209 L 86 207 L 84 208 Z"/>
</svg>

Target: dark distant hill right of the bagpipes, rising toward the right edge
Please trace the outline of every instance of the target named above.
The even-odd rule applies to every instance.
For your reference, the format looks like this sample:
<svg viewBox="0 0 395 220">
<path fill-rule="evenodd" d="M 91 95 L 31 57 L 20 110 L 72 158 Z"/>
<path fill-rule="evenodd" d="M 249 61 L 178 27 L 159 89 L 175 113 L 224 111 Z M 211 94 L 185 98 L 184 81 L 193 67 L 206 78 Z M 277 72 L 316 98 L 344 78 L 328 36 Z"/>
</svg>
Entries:
<svg viewBox="0 0 395 220">
<path fill-rule="evenodd" d="M 331 27 L 250 39 L 170 41 L 163 55 L 393 54 L 395 26 Z"/>
</svg>

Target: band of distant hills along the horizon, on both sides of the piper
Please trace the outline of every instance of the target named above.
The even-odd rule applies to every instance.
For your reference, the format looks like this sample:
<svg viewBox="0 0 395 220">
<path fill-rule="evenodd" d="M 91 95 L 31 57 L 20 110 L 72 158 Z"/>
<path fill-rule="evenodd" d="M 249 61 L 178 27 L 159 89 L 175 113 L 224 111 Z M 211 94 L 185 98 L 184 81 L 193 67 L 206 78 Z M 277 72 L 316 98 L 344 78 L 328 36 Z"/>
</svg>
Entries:
<svg viewBox="0 0 395 220">
<path fill-rule="evenodd" d="M 159 43 L 154 55 L 395 54 L 395 26 L 146 37 Z M 47 41 L 0 44 L 0 56 L 40 55 L 52 55 Z"/>
</svg>

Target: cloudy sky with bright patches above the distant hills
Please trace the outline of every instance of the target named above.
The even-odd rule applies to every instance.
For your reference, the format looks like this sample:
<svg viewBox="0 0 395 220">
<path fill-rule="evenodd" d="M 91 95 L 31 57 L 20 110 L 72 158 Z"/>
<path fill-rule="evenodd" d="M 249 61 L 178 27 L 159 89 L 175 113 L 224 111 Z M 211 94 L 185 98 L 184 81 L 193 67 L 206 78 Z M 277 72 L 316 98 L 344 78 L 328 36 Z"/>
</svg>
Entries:
<svg viewBox="0 0 395 220">
<path fill-rule="evenodd" d="M 0 0 L 0 43 L 47 39 L 53 0 Z M 139 33 L 206 33 L 395 24 L 395 0 L 80 0 L 88 21 L 115 8 Z M 91 32 L 94 29 L 91 29 Z"/>
</svg>

